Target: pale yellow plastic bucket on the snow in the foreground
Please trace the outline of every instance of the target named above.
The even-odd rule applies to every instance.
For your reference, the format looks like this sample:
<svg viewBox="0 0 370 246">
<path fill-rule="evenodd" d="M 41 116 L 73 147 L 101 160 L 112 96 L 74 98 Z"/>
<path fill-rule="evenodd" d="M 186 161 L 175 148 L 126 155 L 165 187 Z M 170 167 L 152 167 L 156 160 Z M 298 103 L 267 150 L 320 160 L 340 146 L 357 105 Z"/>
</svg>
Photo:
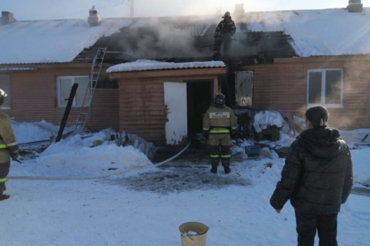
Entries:
<svg viewBox="0 0 370 246">
<path fill-rule="evenodd" d="M 181 246 L 205 246 L 208 226 L 199 222 L 186 222 L 179 227 Z"/>
</svg>

